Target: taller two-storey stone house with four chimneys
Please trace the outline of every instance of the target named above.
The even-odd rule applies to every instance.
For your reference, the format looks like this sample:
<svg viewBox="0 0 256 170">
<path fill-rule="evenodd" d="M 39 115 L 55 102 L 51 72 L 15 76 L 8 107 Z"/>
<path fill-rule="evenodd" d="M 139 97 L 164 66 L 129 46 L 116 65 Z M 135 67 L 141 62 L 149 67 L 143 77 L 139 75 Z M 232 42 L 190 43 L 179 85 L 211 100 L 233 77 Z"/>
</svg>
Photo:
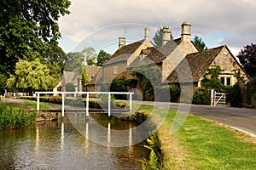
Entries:
<svg viewBox="0 0 256 170">
<path fill-rule="evenodd" d="M 125 45 L 125 38 L 120 37 L 119 49 L 103 65 L 102 81 L 112 82 L 113 78 L 119 77 L 134 79 L 132 68 L 147 63 L 160 68 L 164 82 L 187 54 L 198 52 L 191 42 L 190 27 L 188 22 L 183 22 L 181 37 L 175 40 L 171 40 L 171 31 L 166 28 L 160 47 L 150 42 L 148 28 L 145 28 L 144 39 L 138 42 Z"/>
</svg>

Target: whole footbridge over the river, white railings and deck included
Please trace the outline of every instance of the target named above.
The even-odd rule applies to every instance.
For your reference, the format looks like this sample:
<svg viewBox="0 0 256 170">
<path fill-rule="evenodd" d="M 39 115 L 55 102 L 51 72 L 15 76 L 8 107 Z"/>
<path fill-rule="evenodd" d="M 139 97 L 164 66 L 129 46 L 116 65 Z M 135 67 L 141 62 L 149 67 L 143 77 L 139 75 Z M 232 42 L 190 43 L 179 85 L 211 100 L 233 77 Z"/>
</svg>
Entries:
<svg viewBox="0 0 256 170">
<path fill-rule="evenodd" d="M 85 112 L 86 116 L 89 116 L 89 112 L 95 113 L 108 113 L 108 116 L 111 116 L 111 113 L 120 113 L 125 111 L 132 111 L 132 94 L 133 92 L 36 92 L 37 94 L 37 111 L 40 111 L 40 94 L 61 94 L 62 105 L 59 110 L 45 110 L 43 112 L 61 112 L 61 116 L 64 116 L 65 112 Z M 68 109 L 65 110 L 65 95 L 66 94 L 86 94 L 86 105 L 85 109 Z M 89 108 L 89 95 L 90 94 L 108 94 L 108 109 L 91 109 Z M 129 109 L 111 109 L 111 95 L 112 94 L 127 94 L 129 95 Z"/>
</svg>

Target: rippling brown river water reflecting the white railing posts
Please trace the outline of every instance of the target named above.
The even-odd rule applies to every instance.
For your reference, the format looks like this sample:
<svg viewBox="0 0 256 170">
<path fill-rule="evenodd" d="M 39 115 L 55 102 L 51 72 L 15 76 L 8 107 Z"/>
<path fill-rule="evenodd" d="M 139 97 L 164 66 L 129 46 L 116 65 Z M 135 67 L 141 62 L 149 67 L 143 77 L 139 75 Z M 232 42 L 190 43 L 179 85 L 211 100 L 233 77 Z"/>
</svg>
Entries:
<svg viewBox="0 0 256 170">
<path fill-rule="evenodd" d="M 75 122 L 83 122 L 79 124 L 83 128 Z M 0 169 L 141 169 L 137 160 L 147 158 L 149 152 L 144 142 L 132 144 L 134 134 L 129 129 L 134 125 L 105 119 L 104 128 L 96 128 L 99 122 L 73 113 L 55 122 L 0 132 Z M 125 140 L 123 147 L 112 147 L 112 128 L 127 129 L 119 136 Z M 96 142 L 101 140 L 106 142 Z"/>
</svg>

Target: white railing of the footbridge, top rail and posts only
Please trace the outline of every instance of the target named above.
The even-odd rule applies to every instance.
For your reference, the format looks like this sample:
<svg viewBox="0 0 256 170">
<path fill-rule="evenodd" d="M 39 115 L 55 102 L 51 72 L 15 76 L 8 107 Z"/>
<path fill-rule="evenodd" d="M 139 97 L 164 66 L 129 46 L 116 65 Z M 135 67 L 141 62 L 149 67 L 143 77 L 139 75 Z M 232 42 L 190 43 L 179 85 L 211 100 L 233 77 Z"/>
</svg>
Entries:
<svg viewBox="0 0 256 170">
<path fill-rule="evenodd" d="M 111 94 L 127 94 L 129 95 L 129 106 L 132 111 L 132 94 L 134 92 L 35 92 L 37 94 L 37 111 L 40 111 L 40 94 L 61 94 L 61 116 L 64 116 L 65 111 L 65 94 L 86 94 L 85 114 L 89 116 L 89 95 L 90 94 L 108 94 L 108 116 L 111 116 Z"/>
</svg>

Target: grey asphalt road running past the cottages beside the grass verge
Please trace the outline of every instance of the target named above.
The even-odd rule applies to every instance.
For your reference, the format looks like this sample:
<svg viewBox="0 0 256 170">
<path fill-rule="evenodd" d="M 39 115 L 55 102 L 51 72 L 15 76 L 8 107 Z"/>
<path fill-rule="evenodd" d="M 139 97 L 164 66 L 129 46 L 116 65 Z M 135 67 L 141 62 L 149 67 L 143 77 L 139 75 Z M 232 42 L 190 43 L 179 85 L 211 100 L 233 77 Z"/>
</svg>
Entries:
<svg viewBox="0 0 256 170">
<path fill-rule="evenodd" d="M 144 102 L 146 105 L 154 105 L 154 102 Z M 160 103 L 155 105 L 161 108 L 177 110 L 180 107 L 176 103 Z M 210 106 L 210 105 L 186 105 L 189 113 L 202 116 L 212 121 L 237 128 L 245 133 L 253 133 L 256 137 L 256 109 L 234 108 L 228 106 Z"/>
</svg>

